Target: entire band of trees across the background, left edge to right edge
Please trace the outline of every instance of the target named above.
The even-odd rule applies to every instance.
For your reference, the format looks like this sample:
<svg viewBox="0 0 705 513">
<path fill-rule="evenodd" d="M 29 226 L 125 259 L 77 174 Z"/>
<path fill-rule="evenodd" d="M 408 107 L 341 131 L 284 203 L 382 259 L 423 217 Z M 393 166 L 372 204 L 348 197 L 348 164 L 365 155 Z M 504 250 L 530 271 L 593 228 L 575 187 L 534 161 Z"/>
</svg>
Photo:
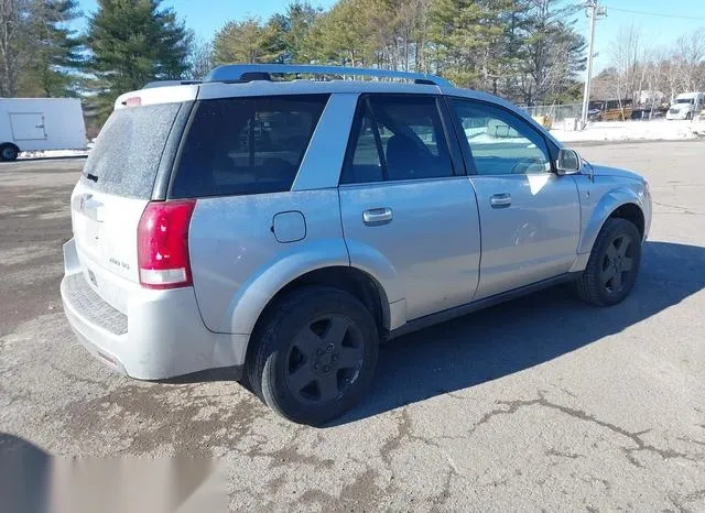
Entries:
<svg viewBox="0 0 705 513">
<path fill-rule="evenodd" d="M 226 63 L 432 73 L 525 106 L 582 95 L 583 10 L 570 0 L 338 0 L 327 10 L 292 0 L 268 19 L 228 21 L 209 40 L 162 0 L 97 3 L 85 15 L 77 0 L 0 0 L 0 96 L 80 96 L 100 122 L 121 92 Z M 657 51 L 630 28 L 611 47 L 593 97 L 705 89 L 705 29 Z"/>
</svg>

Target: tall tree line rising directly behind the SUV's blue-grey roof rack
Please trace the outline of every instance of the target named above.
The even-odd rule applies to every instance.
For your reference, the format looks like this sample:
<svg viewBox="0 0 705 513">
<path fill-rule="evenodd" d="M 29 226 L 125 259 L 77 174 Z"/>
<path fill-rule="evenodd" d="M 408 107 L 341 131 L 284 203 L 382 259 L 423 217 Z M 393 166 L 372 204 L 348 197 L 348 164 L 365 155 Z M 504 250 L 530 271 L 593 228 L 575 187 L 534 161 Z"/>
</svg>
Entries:
<svg viewBox="0 0 705 513">
<path fill-rule="evenodd" d="M 579 11 L 582 12 L 582 11 Z M 294 1 L 215 35 L 212 64 L 317 63 L 443 75 L 524 105 L 579 97 L 585 41 L 564 0 Z"/>
</svg>

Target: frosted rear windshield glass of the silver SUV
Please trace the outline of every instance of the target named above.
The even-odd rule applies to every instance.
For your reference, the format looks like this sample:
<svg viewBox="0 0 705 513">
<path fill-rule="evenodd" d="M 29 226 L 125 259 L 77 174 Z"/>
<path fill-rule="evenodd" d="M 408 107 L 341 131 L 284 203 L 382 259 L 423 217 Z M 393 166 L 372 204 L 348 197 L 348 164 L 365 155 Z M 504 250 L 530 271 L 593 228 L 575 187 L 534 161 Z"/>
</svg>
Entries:
<svg viewBox="0 0 705 513">
<path fill-rule="evenodd" d="M 164 144 L 182 103 L 112 112 L 84 166 L 84 182 L 118 196 L 149 199 Z"/>
</svg>

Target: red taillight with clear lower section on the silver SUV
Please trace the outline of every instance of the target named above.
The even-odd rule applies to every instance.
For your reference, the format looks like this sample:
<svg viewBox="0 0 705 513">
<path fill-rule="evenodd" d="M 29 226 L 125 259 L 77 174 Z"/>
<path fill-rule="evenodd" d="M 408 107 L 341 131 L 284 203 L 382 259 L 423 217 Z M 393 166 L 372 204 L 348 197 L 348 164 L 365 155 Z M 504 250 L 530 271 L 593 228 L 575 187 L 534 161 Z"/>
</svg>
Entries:
<svg viewBox="0 0 705 513">
<path fill-rule="evenodd" d="M 152 201 L 137 229 L 140 283 L 148 288 L 193 284 L 188 260 L 188 225 L 196 200 Z"/>
</svg>

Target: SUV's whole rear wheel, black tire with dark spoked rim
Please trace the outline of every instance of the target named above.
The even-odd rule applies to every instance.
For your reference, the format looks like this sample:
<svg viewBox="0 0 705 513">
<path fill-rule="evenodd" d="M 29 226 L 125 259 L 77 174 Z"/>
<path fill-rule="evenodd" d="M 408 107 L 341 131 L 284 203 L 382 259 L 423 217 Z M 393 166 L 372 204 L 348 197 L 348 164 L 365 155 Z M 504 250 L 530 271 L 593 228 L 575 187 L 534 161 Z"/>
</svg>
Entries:
<svg viewBox="0 0 705 513">
<path fill-rule="evenodd" d="M 294 290 L 258 324 L 248 354 L 252 391 L 280 415 L 319 426 L 350 410 L 375 374 L 377 325 L 352 295 Z"/>
</svg>

